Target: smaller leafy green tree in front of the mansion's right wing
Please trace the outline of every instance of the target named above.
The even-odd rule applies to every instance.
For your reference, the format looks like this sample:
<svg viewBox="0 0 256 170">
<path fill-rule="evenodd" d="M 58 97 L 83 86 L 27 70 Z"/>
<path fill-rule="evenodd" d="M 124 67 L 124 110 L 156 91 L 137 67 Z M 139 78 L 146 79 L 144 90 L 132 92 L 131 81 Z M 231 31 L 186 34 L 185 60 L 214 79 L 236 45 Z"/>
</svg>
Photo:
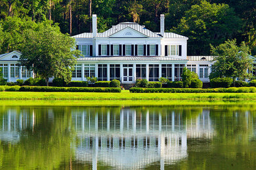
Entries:
<svg viewBox="0 0 256 170">
<path fill-rule="evenodd" d="M 236 78 L 249 77 L 247 70 L 252 69 L 253 60 L 249 56 L 250 50 L 245 42 L 237 46 L 235 39 L 228 40 L 217 47 L 211 46 L 211 53 L 216 57 L 215 63 L 211 67 L 210 78 L 230 77 L 235 80 Z"/>
</svg>

